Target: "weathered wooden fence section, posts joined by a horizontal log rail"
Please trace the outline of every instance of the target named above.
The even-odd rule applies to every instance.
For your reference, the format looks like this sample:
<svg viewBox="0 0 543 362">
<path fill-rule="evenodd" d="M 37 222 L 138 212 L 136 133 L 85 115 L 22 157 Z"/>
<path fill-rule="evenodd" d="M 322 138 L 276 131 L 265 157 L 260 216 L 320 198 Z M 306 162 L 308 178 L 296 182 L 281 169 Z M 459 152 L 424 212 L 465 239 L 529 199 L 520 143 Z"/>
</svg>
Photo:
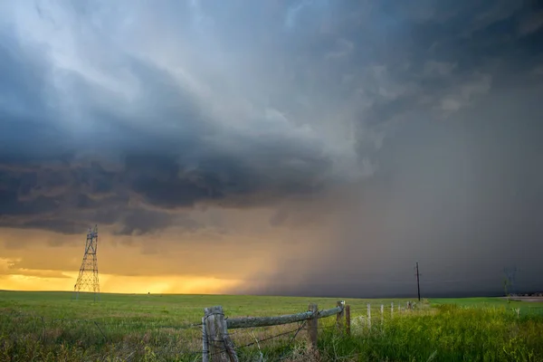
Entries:
<svg viewBox="0 0 543 362">
<path fill-rule="evenodd" d="M 202 319 L 202 360 L 204 362 L 238 362 L 228 329 L 244 329 L 256 327 L 279 326 L 300 321 L 306 321 L 308 338 L 311 348 L 317 348 L 319 319 L 331 316 L 336 317 L 336 328 L 343 331 L 346 314 L 345 301 L 340 300 L 337 307 L 329 310 L 319 310 L 317 304 L 310 304 L 307 311 L 276 317 L 245 317 L 224 319 L 223 307 L 214 306 L 205 309 Z M 347 306 L 348 310 L 348 306 Z M 350 318 L 350 313 L 348 313 Z M 350 320 L 347 320 L 347 331 L 350 331 Z"/>
</svg>

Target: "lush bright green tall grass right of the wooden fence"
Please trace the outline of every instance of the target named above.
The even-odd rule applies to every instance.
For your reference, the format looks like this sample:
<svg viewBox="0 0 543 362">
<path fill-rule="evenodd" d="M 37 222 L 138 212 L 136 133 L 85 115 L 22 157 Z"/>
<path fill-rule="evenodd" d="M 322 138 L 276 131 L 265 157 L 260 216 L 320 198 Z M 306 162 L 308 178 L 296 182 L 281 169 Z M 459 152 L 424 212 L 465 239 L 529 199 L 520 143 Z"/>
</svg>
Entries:
<svg viewBox="0 0 543 362">
<path fill-rule="evenodd" d="M 444 305 L 319 338 L 323 360 L 543 361 L 543 318 L 505 308 Z"/>
</svg>

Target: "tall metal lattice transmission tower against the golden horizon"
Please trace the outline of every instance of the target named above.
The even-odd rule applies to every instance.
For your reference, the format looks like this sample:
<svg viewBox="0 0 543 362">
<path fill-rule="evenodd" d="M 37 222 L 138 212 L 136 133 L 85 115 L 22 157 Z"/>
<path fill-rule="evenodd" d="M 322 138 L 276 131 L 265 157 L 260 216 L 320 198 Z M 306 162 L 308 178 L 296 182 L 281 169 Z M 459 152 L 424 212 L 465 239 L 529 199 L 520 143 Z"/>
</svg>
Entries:
<svg viewBox="0 0 543 362">
<path fill-rule="evenodd" d="M 80 291 L 94 292 L 94 300 L 100 293 L 100 281 L 98 279 L 98 262 L 96 252 L 98 250 L 98 225 L 94 229 L 89 228 L 87 233 L 87 242 L 85 243 L 85 254 L 77 281 L 73 286 L 75 299 L 79 299 Z"/>
</svg>

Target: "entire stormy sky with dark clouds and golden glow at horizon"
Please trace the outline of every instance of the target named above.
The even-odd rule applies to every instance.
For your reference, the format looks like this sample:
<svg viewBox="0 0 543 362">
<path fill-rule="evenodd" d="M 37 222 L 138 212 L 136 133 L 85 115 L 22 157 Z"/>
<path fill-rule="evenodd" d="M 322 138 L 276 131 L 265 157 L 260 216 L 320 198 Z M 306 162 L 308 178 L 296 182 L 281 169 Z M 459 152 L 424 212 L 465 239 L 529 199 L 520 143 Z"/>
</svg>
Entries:
<svg viewBox="0 0 543 362">
<path fill-rule="evenodd" d="M 0 288 L 543 290 L 529 1 L 0 2 Z"/>
</svg>

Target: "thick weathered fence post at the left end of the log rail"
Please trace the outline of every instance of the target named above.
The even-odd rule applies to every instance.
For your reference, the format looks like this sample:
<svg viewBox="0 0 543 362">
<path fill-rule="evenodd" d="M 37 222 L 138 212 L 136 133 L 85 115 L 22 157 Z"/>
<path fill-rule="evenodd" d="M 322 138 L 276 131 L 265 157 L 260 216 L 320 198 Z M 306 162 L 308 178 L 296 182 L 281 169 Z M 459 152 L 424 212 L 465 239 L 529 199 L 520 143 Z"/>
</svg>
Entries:
<svg viewBox="0 0 543 362">
<path fill-rule="evenodd" d="M 209 361 L 238 362 L 232 339 L 228 336 L 228 330 L 226 329 L 223 307 L 215 306 L 206 308 L 204 319 Z M 209 343 L 210 339 L 211 343 Z"/>
</svg>

